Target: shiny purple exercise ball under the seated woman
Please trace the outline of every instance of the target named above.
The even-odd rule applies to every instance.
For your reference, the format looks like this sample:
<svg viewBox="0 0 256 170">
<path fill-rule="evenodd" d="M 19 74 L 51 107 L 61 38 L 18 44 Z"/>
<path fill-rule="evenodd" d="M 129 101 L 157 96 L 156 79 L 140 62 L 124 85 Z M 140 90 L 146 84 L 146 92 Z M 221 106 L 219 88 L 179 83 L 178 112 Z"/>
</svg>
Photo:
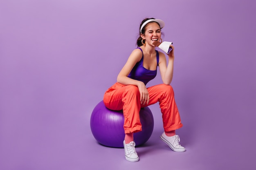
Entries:
<svg viewBox="0 0 256 170">
<path fill-rule="evenodd" d="M 134 133 L 136 146 L 148 141 L 154 128 L 153 114 L 148 107 L 141 108 L 139 117 L 142 131 Z M 114 148 L 124 148 L 123 110 L 109 110 L 101 101 L 92 111 L 90 126 L 92 135 L 100 144 Z"/>
</svg>

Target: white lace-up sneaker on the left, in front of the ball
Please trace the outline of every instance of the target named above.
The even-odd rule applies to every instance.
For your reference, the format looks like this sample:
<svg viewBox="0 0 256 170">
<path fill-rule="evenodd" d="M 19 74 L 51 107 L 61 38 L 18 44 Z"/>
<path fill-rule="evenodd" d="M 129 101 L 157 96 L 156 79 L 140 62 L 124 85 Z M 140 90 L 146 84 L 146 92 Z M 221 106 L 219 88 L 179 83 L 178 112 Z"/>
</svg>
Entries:
<svg viewBox="0 0 256 170">
<path fill-rule="evenodd" d="M 131 141 L 129 144 L 125 144 L 124 142 L 124 154 L 125 159 L 131 162 L 139 161 L 139 156 L 135 150 L 135 142 Z"/>
</svg>

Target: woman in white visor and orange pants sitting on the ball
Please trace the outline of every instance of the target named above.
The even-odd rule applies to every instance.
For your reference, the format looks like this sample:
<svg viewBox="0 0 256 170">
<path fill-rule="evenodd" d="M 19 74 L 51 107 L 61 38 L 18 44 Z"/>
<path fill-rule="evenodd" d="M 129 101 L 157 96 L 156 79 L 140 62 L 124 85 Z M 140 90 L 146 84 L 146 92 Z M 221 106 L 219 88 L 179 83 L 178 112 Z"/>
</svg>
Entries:
<svg viewBox="0 0 256 170">
<path fill-rule="evenodd" d="M 139 157 L 135 150 L 133 133 L 141 131 L 139 110 L 159 102 L 162 112 L 164 132 L 160 138 L 176 152 L 184 152 L 179 144 L 180 138 L 175 130 L 182 127 L 177 109 L 173 88 L 174 47 L 168 54 L 168 65 L 165 54 L 155 50 L 155 41 L 160 42 L 164 22 L 155 18 L 146 18 L 140 24 L 138 48 L 133 50 L 124 67 L 117 76 L 117 82 L 111 86 L 103 97 L 103 102 L 111 110 L 124 112 L 124 149 L 126 160 L 136 162 Z M 157 66 L 163 84 L 146 88 L 146 84 L 157 74 Z"/>
</svg>

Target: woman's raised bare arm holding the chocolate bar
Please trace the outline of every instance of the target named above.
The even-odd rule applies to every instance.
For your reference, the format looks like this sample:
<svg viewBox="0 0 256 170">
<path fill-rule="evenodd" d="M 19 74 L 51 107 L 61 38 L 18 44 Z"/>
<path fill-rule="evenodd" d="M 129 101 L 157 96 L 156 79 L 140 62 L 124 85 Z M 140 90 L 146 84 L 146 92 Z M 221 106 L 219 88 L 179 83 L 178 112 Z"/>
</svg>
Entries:
<svg viewBox="0 0 256 170">
<path fill-rule="evenodd" d="M 159 70 L 164 84 L 171 84 L 173 79 L 173 62 L 174 62 L 174 47 L 170 46 L 173 50 L 168 54 L 168 65 L 166 66 L 166 58 L 164 53 L 159 55 Z"/>
</svg>

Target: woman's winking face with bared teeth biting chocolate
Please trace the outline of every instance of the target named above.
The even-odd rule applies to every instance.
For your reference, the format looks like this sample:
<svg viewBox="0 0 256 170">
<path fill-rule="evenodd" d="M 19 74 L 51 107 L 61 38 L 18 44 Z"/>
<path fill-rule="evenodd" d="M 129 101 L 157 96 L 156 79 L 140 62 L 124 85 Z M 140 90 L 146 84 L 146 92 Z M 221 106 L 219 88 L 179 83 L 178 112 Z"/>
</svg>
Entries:
<svg viewBox="0 0 256 170">
<path fill-rule="evenodd" d="M 151 45 L 153 45 L 152 43 L 154 41 L 160 41 L 161 39 L 160 26 L 156 22 L 149 23 L 145 28 L 145 34 L 141 35 L 141 38 L 146 39 L 146 43 Z"/>
</svg>

